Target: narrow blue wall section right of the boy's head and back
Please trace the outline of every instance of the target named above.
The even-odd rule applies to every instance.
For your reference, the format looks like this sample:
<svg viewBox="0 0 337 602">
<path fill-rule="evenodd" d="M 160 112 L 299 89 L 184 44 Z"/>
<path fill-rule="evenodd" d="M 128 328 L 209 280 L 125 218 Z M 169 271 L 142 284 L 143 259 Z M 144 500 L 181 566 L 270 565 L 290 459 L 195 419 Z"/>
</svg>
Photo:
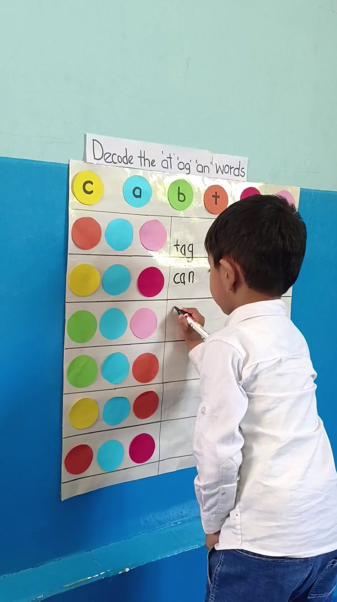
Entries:
<svg viewBox="0 0 337 602">
<path fill-rule="evenodd" d="M 318 411 L 337 461 L 337 193 L 302 190 L 300 212 L 308 229 L 308 244 L 294 286 L 291 317 L 311 350 L 318 373 Z"/>
</svg>

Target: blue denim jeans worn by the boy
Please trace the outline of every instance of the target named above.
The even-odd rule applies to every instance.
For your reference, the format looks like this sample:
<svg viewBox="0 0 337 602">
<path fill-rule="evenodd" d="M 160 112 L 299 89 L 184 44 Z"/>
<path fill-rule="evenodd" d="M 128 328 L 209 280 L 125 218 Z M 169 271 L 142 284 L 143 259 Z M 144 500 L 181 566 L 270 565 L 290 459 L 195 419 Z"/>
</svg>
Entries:
<svg viewBox="0 0 337 602">
<path fill-rule="evenodd" d="M 337 550 L 312 558 L 274 558 L 213 548 L 205 602 L 330 602 Z"/>
</svg>

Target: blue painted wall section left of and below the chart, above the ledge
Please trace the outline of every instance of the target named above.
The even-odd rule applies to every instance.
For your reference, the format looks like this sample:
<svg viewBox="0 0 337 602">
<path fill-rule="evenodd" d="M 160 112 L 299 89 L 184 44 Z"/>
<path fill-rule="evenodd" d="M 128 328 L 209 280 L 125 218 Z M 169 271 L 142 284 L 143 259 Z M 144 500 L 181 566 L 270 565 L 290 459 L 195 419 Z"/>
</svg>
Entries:
<svg viewBox="0 0 337 602">
<path fill-rule="evenodd" d="M 60 500 L 67 172 L 0 160 L 0 575 L 198 514 L 194 470 Z"/>
</svg>

